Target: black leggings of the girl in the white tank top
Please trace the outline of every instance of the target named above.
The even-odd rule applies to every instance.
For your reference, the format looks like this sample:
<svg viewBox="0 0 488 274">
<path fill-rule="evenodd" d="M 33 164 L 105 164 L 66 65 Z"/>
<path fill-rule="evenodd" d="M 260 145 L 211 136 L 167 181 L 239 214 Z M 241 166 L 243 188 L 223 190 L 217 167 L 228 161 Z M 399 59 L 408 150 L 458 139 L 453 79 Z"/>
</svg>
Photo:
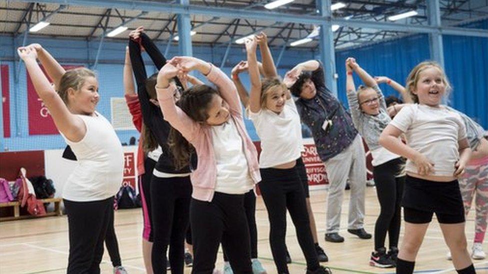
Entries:
<svg viewBox="0 0 488 274">
<path fill-rule="evenodd" d="M 68 274 L 99 274 L 103 241 L 113 218 L 113 197 L 101 201 L 63 199 L 68 216 Z"/>
</svg>

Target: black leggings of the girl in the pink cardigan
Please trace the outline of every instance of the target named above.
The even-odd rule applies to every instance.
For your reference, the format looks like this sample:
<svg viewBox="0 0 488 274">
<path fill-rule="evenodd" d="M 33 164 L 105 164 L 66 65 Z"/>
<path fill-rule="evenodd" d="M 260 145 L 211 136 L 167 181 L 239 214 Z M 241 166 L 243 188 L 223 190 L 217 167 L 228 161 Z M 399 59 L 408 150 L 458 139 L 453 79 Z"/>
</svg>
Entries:
<svg viewBox="0 0 488 274">
<path fill-rule="evenodd" d="M 252 274 L 244 195 L 215 192 L 211 202 L 191 199 L 192 274 L 211 274 L 220 243 L 236 274 Z"/>
</svg>

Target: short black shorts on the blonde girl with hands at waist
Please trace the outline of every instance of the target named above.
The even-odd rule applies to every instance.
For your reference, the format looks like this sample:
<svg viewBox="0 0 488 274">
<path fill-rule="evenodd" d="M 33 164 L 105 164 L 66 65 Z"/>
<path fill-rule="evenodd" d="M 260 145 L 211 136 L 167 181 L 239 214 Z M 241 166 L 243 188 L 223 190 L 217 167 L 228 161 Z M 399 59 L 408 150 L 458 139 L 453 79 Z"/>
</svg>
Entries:
<svg viewBox="0 0 488 274">
<path fill-rule="evenodd" d="M 434 213 L 440 224 L 458 224 L 465 221 L 457 180 L 434 182 L 407 175 L 402 206 L 403 218 L 408 223 L 429 223 Z"/>
</svg>

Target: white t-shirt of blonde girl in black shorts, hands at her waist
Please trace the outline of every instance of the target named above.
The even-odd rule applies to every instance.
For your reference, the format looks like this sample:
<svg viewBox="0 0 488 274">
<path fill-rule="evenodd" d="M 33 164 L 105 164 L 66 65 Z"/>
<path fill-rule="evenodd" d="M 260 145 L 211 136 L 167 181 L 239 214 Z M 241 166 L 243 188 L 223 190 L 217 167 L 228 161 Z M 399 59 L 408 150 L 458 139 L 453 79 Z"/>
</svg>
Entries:
<svg viewBox="0 0 488 274">
<path fill-rule="evenodd" d="M 466 129 L 459 114 L 444 106 L 410 104 L 404 106 L 390 123 L 406 136 L 407 145 L 434 164 L 434 176 L 452 176 L 459 159 L 458 141 L 466 138 Z M 406 171 L 417 173 L 407 160 Z"/>
</svg>

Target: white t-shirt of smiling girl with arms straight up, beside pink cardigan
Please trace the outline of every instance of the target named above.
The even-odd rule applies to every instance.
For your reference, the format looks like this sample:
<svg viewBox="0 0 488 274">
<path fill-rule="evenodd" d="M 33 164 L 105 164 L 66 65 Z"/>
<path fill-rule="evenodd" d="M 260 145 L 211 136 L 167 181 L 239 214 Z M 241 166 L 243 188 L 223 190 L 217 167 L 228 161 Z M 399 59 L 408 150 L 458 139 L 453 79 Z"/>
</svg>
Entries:
<svg viewBox="0 0 488 274">
<path fill-rule="evenodd" d="M 303 150 L 300 116 L 292 98 L 276 114 L 268 109 L 247 110 L 261 140 L 259 167 L 270 168 L 298 159 Z"/>
</svg>

